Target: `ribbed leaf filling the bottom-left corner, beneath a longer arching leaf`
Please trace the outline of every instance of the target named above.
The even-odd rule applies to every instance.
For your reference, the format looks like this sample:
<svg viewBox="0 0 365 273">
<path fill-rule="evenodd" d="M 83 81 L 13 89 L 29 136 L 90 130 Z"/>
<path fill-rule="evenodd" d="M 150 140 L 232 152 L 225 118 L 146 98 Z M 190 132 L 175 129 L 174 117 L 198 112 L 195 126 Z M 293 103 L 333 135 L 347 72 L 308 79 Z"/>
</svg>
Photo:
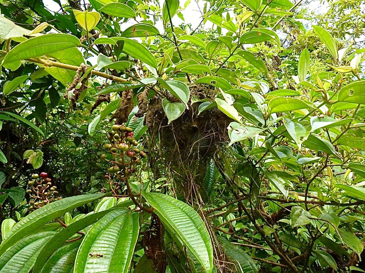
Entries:
<svg viewBox="0 0 365 273">
<path fill-rule="evenodd" d="M 33 234 L 12 246 L 0 257 L 0 273 L 28 273 L 41 248 L 55 232 Z"/>
</svg>

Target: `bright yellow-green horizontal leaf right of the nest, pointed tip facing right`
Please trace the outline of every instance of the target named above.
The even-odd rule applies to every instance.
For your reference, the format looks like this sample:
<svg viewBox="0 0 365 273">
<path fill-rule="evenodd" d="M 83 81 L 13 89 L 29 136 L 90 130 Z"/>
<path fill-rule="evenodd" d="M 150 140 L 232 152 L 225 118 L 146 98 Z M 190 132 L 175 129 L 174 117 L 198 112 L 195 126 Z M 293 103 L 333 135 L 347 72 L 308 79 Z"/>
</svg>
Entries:
<svg viewBox="0 0 365 273">
<path fill-rule="evenodd" d="M 307 103 L 296 98 L 276 97 L 271 99 L 268 104 L 270 113 L 288 112 L 308 108 L 310 108 L 310 106 Z"/>
</svg>

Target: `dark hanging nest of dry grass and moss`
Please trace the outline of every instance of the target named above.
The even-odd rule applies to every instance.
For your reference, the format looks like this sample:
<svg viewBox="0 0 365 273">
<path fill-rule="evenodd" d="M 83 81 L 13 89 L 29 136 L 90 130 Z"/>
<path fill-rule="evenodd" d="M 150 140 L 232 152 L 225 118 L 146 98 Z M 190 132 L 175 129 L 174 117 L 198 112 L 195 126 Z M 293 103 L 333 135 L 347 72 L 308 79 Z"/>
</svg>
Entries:
<svg viewBox="0 0 365 273">
<path fill-rule="evenodd" d="M 195 92 L 199 97 L 214 101 L 214 92 Z M 170 102 L 178 102 L 170 98 Z M 170 175 L 177 185 L 177 193 L 183 194 L 188 203 L 204 203 L 200 191 L 204 190 L 203 179 L 207 161 L 214 156 L 219 146 L 229 141 L 227 127 L 232 121 L 217 108 L 203 111 L 199 116 L 199 103 L 168 124 L 168 118 L 159 98 L 150 99 L 145 123 L 149 127 L 151 146 L 149 163 L 155 177 Z M 167 170 L 167 172 L 166 172 Z M 205 196 L 205 194 L 204 194 Z"/>
</svg>

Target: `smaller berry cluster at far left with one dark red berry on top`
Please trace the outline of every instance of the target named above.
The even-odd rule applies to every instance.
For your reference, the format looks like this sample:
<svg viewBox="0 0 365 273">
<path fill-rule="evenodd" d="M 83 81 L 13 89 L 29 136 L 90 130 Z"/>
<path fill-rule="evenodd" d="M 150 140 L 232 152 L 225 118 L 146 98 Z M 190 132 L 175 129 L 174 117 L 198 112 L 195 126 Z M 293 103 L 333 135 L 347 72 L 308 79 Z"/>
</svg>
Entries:
<svg viewBox="0 0 365 273">
<path fill-rule="evenodd" d="M 28 182 L 28 185 L 31 187 L 31 189 L 26 191 L 33 199 L 29 202 L 30 207 L 28 207 L 28 210 L 38 209 L 39 207 L 43 207 L 52 201 L 62 198 L 57 197 L 57 187 L 52 186 L 51 178 L 48 178 L 47 173 L 41 173 L 39 175 L 33 174 L 32 178 L 34 181 L 31 180 Z"/>
</svg>

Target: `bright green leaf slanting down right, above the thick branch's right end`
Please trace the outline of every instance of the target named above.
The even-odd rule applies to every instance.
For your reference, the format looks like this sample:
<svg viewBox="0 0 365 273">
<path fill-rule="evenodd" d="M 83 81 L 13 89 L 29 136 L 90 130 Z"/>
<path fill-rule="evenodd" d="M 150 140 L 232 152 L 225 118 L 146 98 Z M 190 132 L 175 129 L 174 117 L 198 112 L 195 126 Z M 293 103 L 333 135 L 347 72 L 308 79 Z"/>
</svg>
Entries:
<svg viewBox="0 0 365 273">
<path fill-rule="evenodd" d="M 157 62 L 152 53 L 141 43 L 133 39 L 118 37 L 124 42 L 123 52 L 131 55 L 133 58 L 139 59 L 151 67 L 157 68 Z"/>
</svg>

